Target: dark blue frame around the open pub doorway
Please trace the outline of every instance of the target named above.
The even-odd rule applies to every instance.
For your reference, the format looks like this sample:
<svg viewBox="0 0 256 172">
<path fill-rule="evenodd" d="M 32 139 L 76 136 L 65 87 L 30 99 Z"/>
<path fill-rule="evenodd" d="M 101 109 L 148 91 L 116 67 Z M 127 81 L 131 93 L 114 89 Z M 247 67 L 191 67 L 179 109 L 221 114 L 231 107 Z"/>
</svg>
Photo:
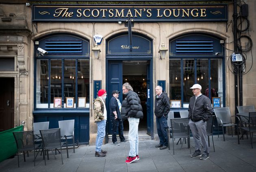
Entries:
<svg viewBox="0 0 256 172">
<path fill-rule="evenodd" d="M 145 61 L 149 61 L 150 62 L 150 70 L 148 71 L 147 73 L 147 77 L 148 75 L 150 75 L 150 113 L 149 113 L 149 117 L 147 116 L 147 118 L 150 118 L 150 123 L 148 124 L 147 122 L 147 125 L 150 125 L 150 133 L 151 133 L 151 139 L 153 140 L 154 139 L 154 111 L 153 111 L 153 58 L 119 58 L 119 59 L 113 59 L 113 58 L 106 58 L 106 91 L 108 93 L 108 96 L 107 96 L 107 99 L 106 99 L 106 108 L 107 108 L 107 114 L 108 114 L 108 118 L 107 118 L 107 124 L 106 124 L 106 136 L 105 136 L 105 140 L 106 142 L 108 142 L 108 130 L 109 130 L 109 127 L 111 125 L 111 122 L 110 122 L 110 117 L 109 117 L 109 101 L 112 97 L 111 93 L 112 93 L 112 90 L 111 90 L 111 85 L 109 84 L 110 83 L 110 79 L 109 79 L 109 64 L 111 63 L 122 63 L 124 60 L 145 60 Z M 122 74 L 123 76 L 123 74 Z M 120 90 L 120 95 L 119 95 L 119 98 L 120 100 L 122 101 L 122 95 L 121 95 L 121 90 L 122 90 L 122 83 L 119 85 L 119 90 Z"/>
</svg>

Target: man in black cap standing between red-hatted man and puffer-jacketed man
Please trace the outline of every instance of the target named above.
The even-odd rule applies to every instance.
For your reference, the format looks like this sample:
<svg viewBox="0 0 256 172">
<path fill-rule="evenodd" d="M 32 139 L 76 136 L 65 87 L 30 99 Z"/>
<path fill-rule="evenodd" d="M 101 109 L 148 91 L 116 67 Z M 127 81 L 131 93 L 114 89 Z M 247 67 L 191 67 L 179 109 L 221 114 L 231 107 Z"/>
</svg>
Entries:
<svg viewBox="0 0 256 172">
<path fill-rule="evenodd" d="M 118 96 L 120 91 L 114 90 L 112 91 L 113 97 L 110 100 L 109 107 L 110 107 L 110 120 L 112 123 L 112 142 L 115 146 L 119 146 L 120 144 L 117 142 L 117 130 L 119 134 L 120 141 L 122 143 L 129 142 L 124 138 L 124 125 L 123 120 L 121 118 L 119 106 L 118 106 Z"/>
</svg>

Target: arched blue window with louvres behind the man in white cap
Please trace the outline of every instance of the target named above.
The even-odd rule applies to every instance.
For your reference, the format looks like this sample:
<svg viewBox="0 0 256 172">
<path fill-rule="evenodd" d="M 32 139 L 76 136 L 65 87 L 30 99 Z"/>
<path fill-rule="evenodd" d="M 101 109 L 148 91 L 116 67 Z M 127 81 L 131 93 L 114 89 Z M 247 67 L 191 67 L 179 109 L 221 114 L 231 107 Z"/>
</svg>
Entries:
<svg viewBox="0 0 256 172">
<path fill-rule="evenodd" d="M 206 34 L 187 34 L 169 42 L 169 98 L 181 100 L 180 108 L 188 108 L 195 83 L 202 94 L 221 98 L 225 106 L 225 58 L 221 39 Z M 210 90 L 210 91 L 209 91 Z"/>
</svg>

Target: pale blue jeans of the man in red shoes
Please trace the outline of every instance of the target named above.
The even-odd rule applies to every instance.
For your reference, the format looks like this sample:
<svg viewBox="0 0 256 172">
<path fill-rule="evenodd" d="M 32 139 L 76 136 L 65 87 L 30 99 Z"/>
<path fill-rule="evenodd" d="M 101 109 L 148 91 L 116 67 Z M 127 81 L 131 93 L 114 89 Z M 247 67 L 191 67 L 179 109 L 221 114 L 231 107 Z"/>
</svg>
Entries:
<svg viewBox="0 0 256 172">
<path fill-rule="evenodd" d="M 129 141 L 130 141 L 130 157 L 139 155 L 139 118 L 128 118 L 129 121 Z"/>
</svg>

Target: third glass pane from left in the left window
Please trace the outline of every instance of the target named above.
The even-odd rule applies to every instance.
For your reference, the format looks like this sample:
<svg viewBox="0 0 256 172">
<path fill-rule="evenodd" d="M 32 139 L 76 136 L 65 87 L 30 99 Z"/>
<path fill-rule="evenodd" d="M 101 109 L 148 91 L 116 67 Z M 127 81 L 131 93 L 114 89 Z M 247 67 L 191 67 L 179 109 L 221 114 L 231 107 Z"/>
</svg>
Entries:
<svg viewBox="0 0 256 172">
<path fill-rule="evenodd" d="M 64 60 L 64 107 L 66 98 L 74 98 L 72 104 L 76 103 L 76 60 Z"/>
</svg>

